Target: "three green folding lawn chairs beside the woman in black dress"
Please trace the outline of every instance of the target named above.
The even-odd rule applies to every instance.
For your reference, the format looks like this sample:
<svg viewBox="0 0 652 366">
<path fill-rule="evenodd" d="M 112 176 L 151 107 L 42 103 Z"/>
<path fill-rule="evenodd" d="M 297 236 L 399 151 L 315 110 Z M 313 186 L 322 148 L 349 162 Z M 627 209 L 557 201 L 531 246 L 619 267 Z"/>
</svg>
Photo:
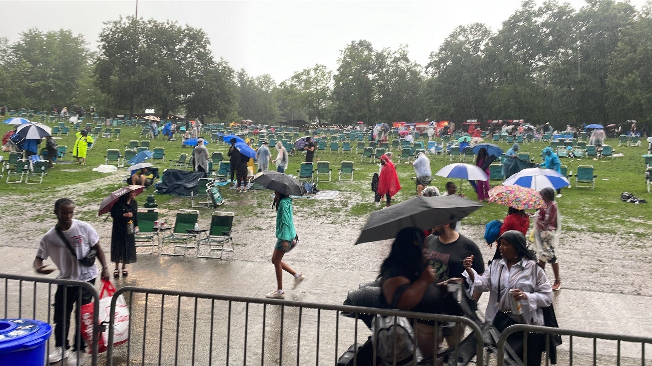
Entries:
<svg viewBox="0 0 652 366">
<path fill-rule="evenodd" d="M 200 212 L 198 210 L 180 209 L 177 210 L 175 222 L 168 224 L 164 228 L 155 228 L 155 222 L 158 220 L 158 209 L 138 209 L 138 229 L 140 231 L 135 235 L 136 246 L 150 248 L 149 252 L 138 251 L 138 254 L 155 254 L 160 252 L 161 255 L 185 256 L 188 249 L 196 249 L 198 258 L 222 258 L 223 252 L 233 252 L 233 238 L 231 229 L 233 228 L 232 212 L 215 211 L 211 215 L 211 225 L 207 229 L 195 229 Z M 226 244 L 230 242 L 230 246 Z M 160 250 L 156 250 L 160 244 Z M 170 248 L 166 246 L 171 245 Z M 202 246 L 207 248 L 207 253 L 203 253 Z M 213 255 L 219 252 L 219 255 Z"/>
</svg>

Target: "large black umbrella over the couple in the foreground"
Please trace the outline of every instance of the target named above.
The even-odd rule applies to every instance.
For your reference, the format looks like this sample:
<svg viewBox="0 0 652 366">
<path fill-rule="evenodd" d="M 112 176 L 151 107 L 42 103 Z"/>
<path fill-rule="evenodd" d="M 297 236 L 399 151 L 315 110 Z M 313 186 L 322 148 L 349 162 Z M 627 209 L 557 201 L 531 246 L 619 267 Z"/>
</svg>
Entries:
<svg viewBox="0 0 652 366">
<path fill-rule="evenodd" d="M 432 229 L 462 220 L 482 207 L 462 196 L 415 197 L 372 213 L 355 244 L 394 239 L 404 228 Z"/>
</svg>

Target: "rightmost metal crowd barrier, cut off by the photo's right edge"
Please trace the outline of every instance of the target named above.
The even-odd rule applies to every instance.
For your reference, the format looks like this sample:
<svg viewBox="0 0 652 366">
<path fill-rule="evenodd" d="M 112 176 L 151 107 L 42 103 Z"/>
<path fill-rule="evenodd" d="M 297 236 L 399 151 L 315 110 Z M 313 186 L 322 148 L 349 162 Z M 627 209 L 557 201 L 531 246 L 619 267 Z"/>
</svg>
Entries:
<svg viewBox="0 0 652 366">
<path fill-rule="evenodd" d="M 509 326 L 507 329 L 505 329 L 499 339 L 498 339 L 498 355 L 497 355 L 497 365 L 504 365 L 505 364 L 505 348 L 509 346 L 509 342 L 507 342 L 507 337 L 510 335 L 516 333 L 516 332 L 523 332 L 523 353 L 527 354 L 527 338 L 528 336 L 532 336 L 531 333 L 539 333 L 545 335 L 545 340 L 544 340 L 544 349 L 549 350 L 551 345 L 550 345 L 550 340 L 552 335 L 559 335 L 559 336 L 568 336 L 568 346 L 569 346 L 569 352 L 568 352 L 568 359 L 563 359 L 563 361 L 559 361 L 559 356 L 557 356 L 557 364 L 559 365 L 569 365 L 572 366 L 573 362 L 575 361 L 576 364 L 579 363 L 580 365 L 588 365 L 591 364 L 593 366 L 597 365 L 603 365 L 605 364 L 604 359 L 601 359 L 600 362 L 598 361 L 599 357 L 605 357 L 605 358 L 612 358 L 613 356 L 610 356 L 610 354 L 614 353 L 613 349 L 608 349 L 606 345 L 600 345 L 600 350 L 602 350 L 602 354 L 599 355 L 598 352 L 598 340 L 606 340 L 606 341 L 616 341 L 615 344 L 615 360 L 609 359 L 608 364 L 613 365 L 614 363 L 611 363 L 612 361 L 615 361 L 615 365 L 620 366 L 623 364 L 625 359 L 623 359 L 623 356 L 621 356 L 621 348 L 622 345 L 621 343 L 627 342 L 627 343 L 640 343 L 641 348 L 640 348 L 640 363 L 632 363 L 635 359 L 638 359 L 638 355 L 635 355 L 635 353 L 638 353 L 634 347 L 628 347 L 625 354 L 625 358 L 628 358 L 627 365 L 641 365 L 645 366 L 645 343 L 652 344 L 652 337 L 637 337 L 637 336 L 632 336 L 632 335 L 617 335 L 617 334 L 610 334 L 610 333 L 599 333 L 599 332 L 584 332 L 581 330 L 569 330 L 569 329 L 561 329 L 561 328 L 551 328 L 547 326 L 535 326 L 535 325 L 529 325 L 529 324 L 514 324 L 512 326 Z M 591 348 L 591 352 L 587 354 L 586 352 L 582 352 L 581 356 L 579 355 L 580 352 L 576 352 L 576 354 L 573 353 L 573 338 L 574 337 L 580 337 L 580 338 L 587 338 L 587 339 L 592 339 L 592 344 L 589 346 Z M 564 340 L 566 341 L 566 340 Z M 585 348 L 585 345 L 583 345 Z M 576 341 L 576 348 L 578 348 L 577 341 Z M 557 354 L 560 352 L 557 351 Z M 550 362 L 548 352 L 545 353 L 545 361 L 546 361 L 546 366 Z M 579 358 L 584 358 L 584 359 L 579 359 Z M 587 359 L 590 358 L 590 359 Z M 527 366 L 528 362 L 527 359 L 524 359 L 524 365 Z M 530 365 L 533 365 L 533 363 L 529 363 Z"/>
</svg>

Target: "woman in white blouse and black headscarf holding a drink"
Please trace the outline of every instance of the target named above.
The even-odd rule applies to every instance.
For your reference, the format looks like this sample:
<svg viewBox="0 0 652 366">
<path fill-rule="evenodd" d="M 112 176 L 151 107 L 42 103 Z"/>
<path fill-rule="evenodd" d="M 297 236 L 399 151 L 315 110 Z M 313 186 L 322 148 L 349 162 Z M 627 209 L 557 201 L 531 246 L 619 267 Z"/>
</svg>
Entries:
<svg viewBox="0 0 652 366">
<path fill-rule="evenodd" d="M 533 325 L 544 325 L 542 307 L 552 304 L 552 287 L 546 276 L 546 272 L 535 261 L 534 253 L 527 250 L 526 238 L 520 231 L 505 231 L 499 242 L 499 256 L 496 255 L 491 265 L 486 268 L 482 276 L 471 268 L 473 258 L 464 260 L 466 274 L 469 283 L 472 283 L 473 292 L 489 292 L 484 317 L 487 321 L 494 322 L 497 313 L 503 313 L 501 317 L 509 317 L 513 322 Z M 522 315 L 512 313 L 511 299 L 514 298 L 521 306 Z M 496 322 L 494 322 L 496 326 Z M 497 326 L 497 328 L 499 328 Z M 502 331 L 503 329 L 498 329 Z M 516 335 L 516 334 L 514 334 Z M 521 346 L 516 345 L 516 338 L 522 339 L 519 333 L 514 341 L 508 343 L 522 358 Z M 527 364 L 540 365 L 541 352 L 545 344 L 535 342 L 535 337 L 528 337 Z M 531 344 L 539 343 L 539 344 Z M 518 349 L 520 348 L 520 349 Z M 520 352 L 519 352 L 520 351 Z"/>
</svg>

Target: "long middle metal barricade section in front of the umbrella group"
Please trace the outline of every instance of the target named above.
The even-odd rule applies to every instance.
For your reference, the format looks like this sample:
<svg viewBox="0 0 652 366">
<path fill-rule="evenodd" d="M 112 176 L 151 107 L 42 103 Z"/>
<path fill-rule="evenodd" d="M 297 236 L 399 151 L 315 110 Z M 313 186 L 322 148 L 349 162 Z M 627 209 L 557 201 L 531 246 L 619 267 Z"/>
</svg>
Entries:
<svg viewBox="0 0 652 366">
<path fill-rule="evenodd" d="M 351 343 L 355 355 L 359 342 L 367 341 L 371 331 L 364 324 L 359 328 L 357 321 L 365 315 L 406 317 L 413 327 L 416 319 L 468 326 L 475 335 L 470 347 L 482 365 L 481 329 L 464 317 L 138 287 L 119 289 L 113 295 L 111 313 L 115 313 L 120 295 L 130 312 L 128 341 L 113 347 L 111 317 L 109 366 L 332 366 Z M 344 313 L 352 317 L 340 317 Z M 430 328 L 434 329 L 433 347 L 437 350 L 442 339 L 437 325 Z M 457 359 L 459 343 L 452 343 L 450 354 Z M 363 365 L 359 361 L 355 356 L 351 364 Z"/>
</svg>

